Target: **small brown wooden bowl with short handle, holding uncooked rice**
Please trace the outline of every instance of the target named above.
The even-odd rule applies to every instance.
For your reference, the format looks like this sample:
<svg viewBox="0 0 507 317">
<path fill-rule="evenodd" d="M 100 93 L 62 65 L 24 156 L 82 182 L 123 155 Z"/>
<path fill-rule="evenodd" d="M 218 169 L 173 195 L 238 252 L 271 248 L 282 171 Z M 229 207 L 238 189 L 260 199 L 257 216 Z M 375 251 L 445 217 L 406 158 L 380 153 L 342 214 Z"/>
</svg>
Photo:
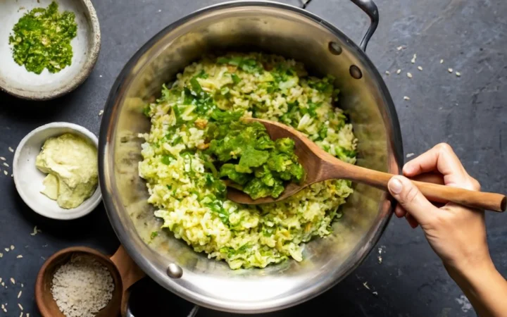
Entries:
<svg viewBox="0 0 507 317">
<path fill-rule="evenodd" d="M 56 270 L 64 263 L 67 263 L 73 255 L 91 256 L 96 261 L 108 268 L 113 278 L 115 288 L 113 297 L 107 306 L 101 309 L 96 317 L 115 317 L 127 315 L 127 304 L 130 297 L 130 286 L 144 278 L 145 274 L 127 254 L 123 246 L 120 245 L 118 251 L 111 258 L 99 251 L 88 247 L 70 247 L 53 254 L 44 262 L 37 275 L 35 282 L 35 301 L 42 317 L 65 317 L 58 309 L 56 302 L 51 294 L 51 285 L 53 275 Z"/>
</svg>

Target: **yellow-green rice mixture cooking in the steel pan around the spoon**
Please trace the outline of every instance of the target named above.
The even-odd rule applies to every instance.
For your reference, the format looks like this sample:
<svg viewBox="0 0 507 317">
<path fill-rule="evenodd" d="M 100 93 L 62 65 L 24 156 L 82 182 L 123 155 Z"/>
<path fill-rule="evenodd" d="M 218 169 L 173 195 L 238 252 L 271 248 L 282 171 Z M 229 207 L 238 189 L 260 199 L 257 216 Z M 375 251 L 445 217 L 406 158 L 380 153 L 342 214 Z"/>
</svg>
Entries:
<svg viewBox="0 0 507 317">
<path fill-rule="evenodd" d="M 332 232 L 351 182 L 321 182 L 273 204 L 235 204 L 225 198 L 209 143 L 220 126 L 252 116 L 291 125 L 355 163 L 356 138 L 335 106 L 333 82 L 308 76 L 301 63 L 253 53 L 204 58 L 164 85 L 160 99 L 145 109 L 151 131 L 139 163 L 163 228 L 233 269 L 301 261 L 303 242 Z"/>
</svg>

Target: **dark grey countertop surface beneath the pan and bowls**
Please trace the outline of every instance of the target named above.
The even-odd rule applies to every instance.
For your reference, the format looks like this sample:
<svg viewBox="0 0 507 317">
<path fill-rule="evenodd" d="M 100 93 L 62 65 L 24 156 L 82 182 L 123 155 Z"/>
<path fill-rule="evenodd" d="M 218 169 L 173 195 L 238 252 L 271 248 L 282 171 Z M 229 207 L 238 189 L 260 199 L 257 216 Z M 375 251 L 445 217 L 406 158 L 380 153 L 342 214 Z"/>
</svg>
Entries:
<svg viewBox="0 0 507 317">
<path fill-rule="evenodd" d="M 299 5 L 298 0 L 286 2 Z M 216 0 L 93 1 L 102 31 L 99 61 L 75 92 L 54 101 L 32 103 L 0 93 L 0 156 L 10 164 L 15 148 L 30 130 L 54 121 L 69 121 L 99 132 L 103 108 L 115 77 L 147 39 L 166 25 Z M 438 142 L 451 144 L 470 175 L 483 189 L 507 192 L 507 2 L 502 0 L 377 0 L 380 27 L 368 55 L 384 75 L 398 111 L 406 154 L 420 154 Z M 313 0 L 308 10 L 359 42 L 368 18 L 348 0 Z M 397 46 L 406 46 L 398 51 Z M 415 64 L 411 64 L 417 54 Z M 444 63 L 440 64 L 440 60 Z M 417 70 L 422 66 L 423 70 Z M 1 66 L 0 66 L 1 67 Z M 461 77 L 447 68 L 459 71 Z M 401 75 L 396 70 L 401 69 Z M 406 72 L 413 78 L 409 79 Z M 410 100 L 403 100 L 403 96 Z M 504 147 L 505 146 L 505 147 Z M 3 171 L 4 166 L 0 166 Z M 0 173 L 0 304 L 19 316 L 17 303 L 39 316 L 33 287 L 40 266 L 58 249 L 86 245 L 106 253 L 118 247 L 104 207 L 71 222 L 44 219 L 30 211 L 13 180 Z M 496 266 L 507 275 L 505 215 L 488 213 L 489 245 Z M 34 226 L 42 230 L 32 236 Z M 5 247 L 15 246 L 5 252 Z M 308 316 L 325 308 L 335 316 L 475 316 L 461 290 L 446 275 L 420 229 L 392 219 L 363 265 L 342 283 L 294 309 L 265 316 Z M 16 256 L 22 254 L 22 259 Z M 9 281 L 15 279 L 15 285 Z M 23 283 L 23 286 L 22 284 Z M 363 283 L 367 283 L 368 290 Z M 18 293 L 23 294 L 18 299 Z M 372 292 L 376 291 L 377 296 Z M 148 304 L 149 303 L 149 304 Z M 168 304 L 171 303 L 171 304 Z M 136 285 L 135 316 L 187 316 L 192 304 L 150 280 Z M 146 310 L 148 309 L 148 310 Z M 197 316 L 230 316 L 201 309 Z"/>
</svg>

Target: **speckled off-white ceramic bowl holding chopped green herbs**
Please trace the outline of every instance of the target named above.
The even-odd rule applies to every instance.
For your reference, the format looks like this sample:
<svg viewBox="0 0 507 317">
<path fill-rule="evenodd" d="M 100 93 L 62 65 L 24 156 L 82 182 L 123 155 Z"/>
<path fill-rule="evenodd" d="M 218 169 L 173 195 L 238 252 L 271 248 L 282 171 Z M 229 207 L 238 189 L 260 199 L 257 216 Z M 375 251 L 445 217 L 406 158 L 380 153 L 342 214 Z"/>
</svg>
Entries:
<svg viewBox="0 0 507 317">
<path fill-rule="evenodd" d="M 72 40 L 73 59 L 59 73 L 44 69 L 30 73 L 13 59 L 8 37 L 18 20 L 32 8 L 44 7 L 52 0 L 0 1 L 0 88 L 16 97 L 46 100 L 60 97 L 82 84 L 92 72 L 99 56 L 101 33 L 99 20 L 90 0 L 56 0 L 59 11 L 75 13 L 77 36 Z"/>
</svg>

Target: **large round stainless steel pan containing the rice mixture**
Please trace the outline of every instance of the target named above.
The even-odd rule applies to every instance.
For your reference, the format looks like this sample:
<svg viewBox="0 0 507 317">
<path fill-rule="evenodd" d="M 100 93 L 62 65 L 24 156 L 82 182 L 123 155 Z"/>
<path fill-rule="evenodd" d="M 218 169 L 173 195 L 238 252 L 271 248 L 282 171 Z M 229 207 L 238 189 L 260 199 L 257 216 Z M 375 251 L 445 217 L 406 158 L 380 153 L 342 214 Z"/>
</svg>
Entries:
<svg viewBox="0 0 507 317">
<path fill-rule="evenodd" d="M 384 192 L 357 185 L 344 217 L 326 239 L 306 244 L 301 263 L 232 271 L 196 254 L 174 237 L 150 240 L 160 221 L 146 203 L 137 174 L 139 133 L 149 131 L 142 106 L 206 52 L 254 50 L 296 58 L 318 75 L 330 73 L 342 90 L 359 139 L 358 164 L 399 173 L 398 118 L 387 87 L 365 54 L 378 23 L 370 0 L 353 0 L 371 18 L 360 46 L 301 8 L 276 2 L 239 1 L 204 8 L 150 39 L 127 63 L 109 95 L 99 144 L 100 185 L 109 219 L 132 259 L 159 284 L 191 302 L 238 313 L 274 311 L 329 289 L 361 264 L 392 214 Z M 142 25 L 139 25 L 142 27 Z M 170 303 L 168 311 L 170 311 Z"/>
</svg>

